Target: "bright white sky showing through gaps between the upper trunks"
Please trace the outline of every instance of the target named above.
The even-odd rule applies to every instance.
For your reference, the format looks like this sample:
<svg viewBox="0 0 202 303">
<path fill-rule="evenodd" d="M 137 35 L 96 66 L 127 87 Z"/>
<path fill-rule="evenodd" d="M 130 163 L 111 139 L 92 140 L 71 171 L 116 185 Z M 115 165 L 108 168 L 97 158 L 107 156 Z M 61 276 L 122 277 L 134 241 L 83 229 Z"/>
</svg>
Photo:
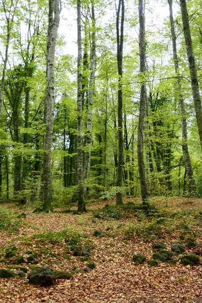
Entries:
<svg viewBox="0 0 202 303">
<path fill-rule="evenodd" d="M 95 4 L 96 9 L 96 4 Z M 128 37 L 128 41 L 124 43 L 124 52 L 130 52 L 132 44 L 131 41 L 138 40 L 138 5 L 134 1 L 128 0 L 125 2 L 125 17 L 124 34 Z M 173 4 L 174 14 L 178 10 L 178 5 Z M 106 25 L 115 22 L 116 9 L 115 1 L 104 3 L 105 15 L 97 18 L 96 25 L 105 27 Z M 100 14 L 95 10 L 95 15 Z M 167 1 L 149 0 L 145 4 L 145 31 L 152 32 L 153 42 L 159 42 L 163 33 L 164 21 L 169 17 L 169 6 Z M 133 21 L 132 21 L 133 19 Z M 129 21 L 129 22 L 128 22 Z M 67 6 L 63 8 L 61 13 L 61 22 L 59 27 L 59 34 L 64 36 L 66 45 L 62 52 L 77 56 L 77 12 L 76 6 Z M 114 33 L 116 34 L 116 33 Z"/>
</svg>

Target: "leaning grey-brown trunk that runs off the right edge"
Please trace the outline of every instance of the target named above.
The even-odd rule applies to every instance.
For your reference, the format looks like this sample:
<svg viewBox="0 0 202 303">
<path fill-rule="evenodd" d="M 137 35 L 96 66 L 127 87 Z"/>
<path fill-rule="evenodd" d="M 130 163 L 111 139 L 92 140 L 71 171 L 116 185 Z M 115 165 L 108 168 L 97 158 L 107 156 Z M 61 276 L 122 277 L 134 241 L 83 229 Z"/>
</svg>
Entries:
<svg viewBox="0 0 202 303">
<path fill-rule="evenodd" d="M 191 40 L 191 32 L 189 27 L 189 16 L 187 12 L 186 0 L 180 0 L 180 8 L 181 8 L 183 31 L 184 31 L 184 38 L 186 44 L 186 53 L 189 62 L 189 71 L 191 76 L 193 104 L 194 104 L 198 134 L 200 139 L 200 147 L 202 149 L 202 108 L 201 108 L 198 77 L 197 77 L 197 70 L 195 65 L 195 57 L 193 53 L 193 45 Z"/>
</svg>

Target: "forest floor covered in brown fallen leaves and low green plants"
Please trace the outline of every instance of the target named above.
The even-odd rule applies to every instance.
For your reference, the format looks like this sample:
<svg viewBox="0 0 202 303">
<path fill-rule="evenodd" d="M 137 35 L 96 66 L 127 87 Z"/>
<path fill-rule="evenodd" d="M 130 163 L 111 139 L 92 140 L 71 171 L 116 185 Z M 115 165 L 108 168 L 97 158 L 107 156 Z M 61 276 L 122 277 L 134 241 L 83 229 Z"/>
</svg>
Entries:
<svg viewBox="0 0 202 303">
<path fill-rule="evenodd" d="M 187 237 L 195 239 L 198 246 L 186 247 L 185 252 L 198 255 L 201 262 L 202 199 L 154 197 L 150 203 L 158 212 L 151 215 L 134 211 L 128 201 L 141 202 L 125 197 L 125 208 L 121 209 L 111 207 L 115 200 L 107 201 L 107 207 L 106 201 L 91 201 L 86 205 L 88 212 L 81 215 L 60 209 L 53 214 L 36 214 L 29 206 L 19 210 L 14 204 L 1 204 L 0 269 L 14 267 L 21 256 L 24 261 L 20 266 L 30 272 L 29 254 L 35 256 L 38 266 L 70 271 L 75 265 L 83 269 L 87 262 L 72 254 L 77 242 L 90 247 L 96 268 L 76 273 L 70 280 L 57 280 L 51 287 L 29 284 L 26 277 L 0 278 L 0 302 L 202 302 L 201 264 L 190 267 L 159 262 L 158 267 L 150 267 L 146 262 L 137 266 L 132 260 L 134 254 L 145 255 L 146 261 L 152 259 L 154 242 L 163 241 L 170 250 L 181 236 L 183 244 Z M 26 218 L 18 218 L 22 212 Z M 12 245 L 18 248 L 17 256 L 5 258 L 6 247 Z"/>
</svg>

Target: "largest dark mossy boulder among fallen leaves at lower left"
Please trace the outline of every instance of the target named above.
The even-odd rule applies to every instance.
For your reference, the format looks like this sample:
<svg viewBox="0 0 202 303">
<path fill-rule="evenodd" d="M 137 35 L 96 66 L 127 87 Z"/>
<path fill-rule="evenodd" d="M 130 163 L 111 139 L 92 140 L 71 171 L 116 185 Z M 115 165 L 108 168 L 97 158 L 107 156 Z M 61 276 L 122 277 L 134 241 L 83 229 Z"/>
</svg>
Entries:
<svg viewBox="0 0 202 303">
<path fill-rule="evenodd" d="M 48 266 L 36 268 L 27 276 L 29 283 L 40 286 L 56 285 L 56 272 Z"/>
</svg>

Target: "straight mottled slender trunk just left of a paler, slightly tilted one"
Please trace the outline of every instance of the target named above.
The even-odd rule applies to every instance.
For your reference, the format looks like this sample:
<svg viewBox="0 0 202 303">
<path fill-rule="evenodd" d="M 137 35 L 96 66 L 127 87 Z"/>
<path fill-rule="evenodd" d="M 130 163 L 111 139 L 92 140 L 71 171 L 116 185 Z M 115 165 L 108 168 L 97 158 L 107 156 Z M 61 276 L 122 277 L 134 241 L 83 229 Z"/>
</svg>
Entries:
<svg viewBox="0 0 202 303">
<path fill-rule="evenodd" d="M 81 0 L 77 0 L 77 184 L 78 184 L 78 212 L 85 212 L 83 188 L 83 152 L 82 152 L 82 47 L 81 47 Z"/>
</svg>

